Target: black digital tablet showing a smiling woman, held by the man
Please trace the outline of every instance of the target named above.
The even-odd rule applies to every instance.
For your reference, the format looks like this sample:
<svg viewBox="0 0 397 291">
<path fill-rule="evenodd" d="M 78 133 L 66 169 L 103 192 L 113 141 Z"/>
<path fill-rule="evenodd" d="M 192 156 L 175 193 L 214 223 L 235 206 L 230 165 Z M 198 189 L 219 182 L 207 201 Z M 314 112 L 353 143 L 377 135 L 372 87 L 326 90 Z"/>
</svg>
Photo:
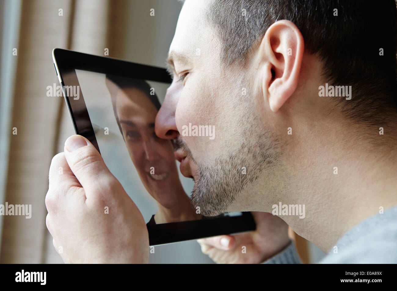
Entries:
<svg viewBox="0 0 397 291">
<path fill-rule="evenodd" d="M 249 212 L 204 217 L 190 203 L 172 141 L 154 132 L 172 82 L 165 68 L 69 51 L 52 51 L 76 134 L 87 138 L 141 211 L 150 245 L 255 229 Z M 62 93 L 61 93 L 62 92 Z M 58 95 L 58 93 L 57 93 Z"/>
</svg>

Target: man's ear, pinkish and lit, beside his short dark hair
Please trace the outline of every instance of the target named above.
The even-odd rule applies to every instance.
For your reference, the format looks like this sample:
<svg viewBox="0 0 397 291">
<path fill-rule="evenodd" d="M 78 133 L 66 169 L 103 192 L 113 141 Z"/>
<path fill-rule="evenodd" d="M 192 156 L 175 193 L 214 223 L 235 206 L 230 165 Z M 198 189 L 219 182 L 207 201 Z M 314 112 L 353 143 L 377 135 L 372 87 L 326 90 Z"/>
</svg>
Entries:
<svg viewBox="0 0 397 291">
<path fill-rule="evenodd" d="M 263 95 L 268 96 L 270 109 L 276 112 L 295 91 L 304 51 L 303 36 L 288 20 L 273 23 L 260 44 L 264 63 Z"/>
</svg>

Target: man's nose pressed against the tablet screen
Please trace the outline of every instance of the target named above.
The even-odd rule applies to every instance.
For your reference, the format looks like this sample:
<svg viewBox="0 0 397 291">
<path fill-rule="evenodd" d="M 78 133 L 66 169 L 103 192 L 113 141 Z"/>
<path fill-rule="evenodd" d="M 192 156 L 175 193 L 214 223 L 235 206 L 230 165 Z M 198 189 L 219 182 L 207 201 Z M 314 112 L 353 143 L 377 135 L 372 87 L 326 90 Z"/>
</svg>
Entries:
<svg viewBox="0 0 397 291">
<path fill-rule="evenodd" d="M 173 83 L 167 89 L 164 102 L 157 113 L 154 130 L 162 139 L 175 139 L 179 135 L 175 123 L 175 111 L 182 88 L 183 86 Z"/>
</svg>

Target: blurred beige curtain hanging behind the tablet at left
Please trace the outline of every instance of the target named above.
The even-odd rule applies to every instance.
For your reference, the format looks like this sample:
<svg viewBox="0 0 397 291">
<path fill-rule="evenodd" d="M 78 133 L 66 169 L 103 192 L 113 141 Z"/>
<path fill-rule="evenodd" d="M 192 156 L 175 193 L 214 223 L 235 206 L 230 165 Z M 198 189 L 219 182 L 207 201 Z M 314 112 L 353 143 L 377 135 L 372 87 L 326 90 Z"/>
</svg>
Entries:
<svg viewBox="0 0 397 291">
<path fill-rule="evenodd" d="M 32 217 L 3 216 L 0 263 L 62 262 L 46 228 L 44 197 L 52 156 L 74 130 L 64 98 L 46 96 L 47 86 L 59 85 L 51 52 L 103 55 L 108 48 L 122 58 L 126 17 L 127 0 L 22 1 L 5 201 L 31 204 Z"/>
</svg>

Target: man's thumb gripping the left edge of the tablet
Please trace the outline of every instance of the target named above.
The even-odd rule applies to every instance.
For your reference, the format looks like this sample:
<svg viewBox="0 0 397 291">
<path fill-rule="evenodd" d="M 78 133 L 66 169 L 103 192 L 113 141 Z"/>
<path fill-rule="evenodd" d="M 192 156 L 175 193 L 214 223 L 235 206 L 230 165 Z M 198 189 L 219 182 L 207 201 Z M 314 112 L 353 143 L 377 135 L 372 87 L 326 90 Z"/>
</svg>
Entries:
<svg viewBox="0 0 397 291">
<path fill-rule="evenodd" d="M 86 190 L 100 189 L 113 177 L 98 150 L 81 135 L 72 135 L 65 142 L 65 157 L 73 174 Z"/>
</svg>

